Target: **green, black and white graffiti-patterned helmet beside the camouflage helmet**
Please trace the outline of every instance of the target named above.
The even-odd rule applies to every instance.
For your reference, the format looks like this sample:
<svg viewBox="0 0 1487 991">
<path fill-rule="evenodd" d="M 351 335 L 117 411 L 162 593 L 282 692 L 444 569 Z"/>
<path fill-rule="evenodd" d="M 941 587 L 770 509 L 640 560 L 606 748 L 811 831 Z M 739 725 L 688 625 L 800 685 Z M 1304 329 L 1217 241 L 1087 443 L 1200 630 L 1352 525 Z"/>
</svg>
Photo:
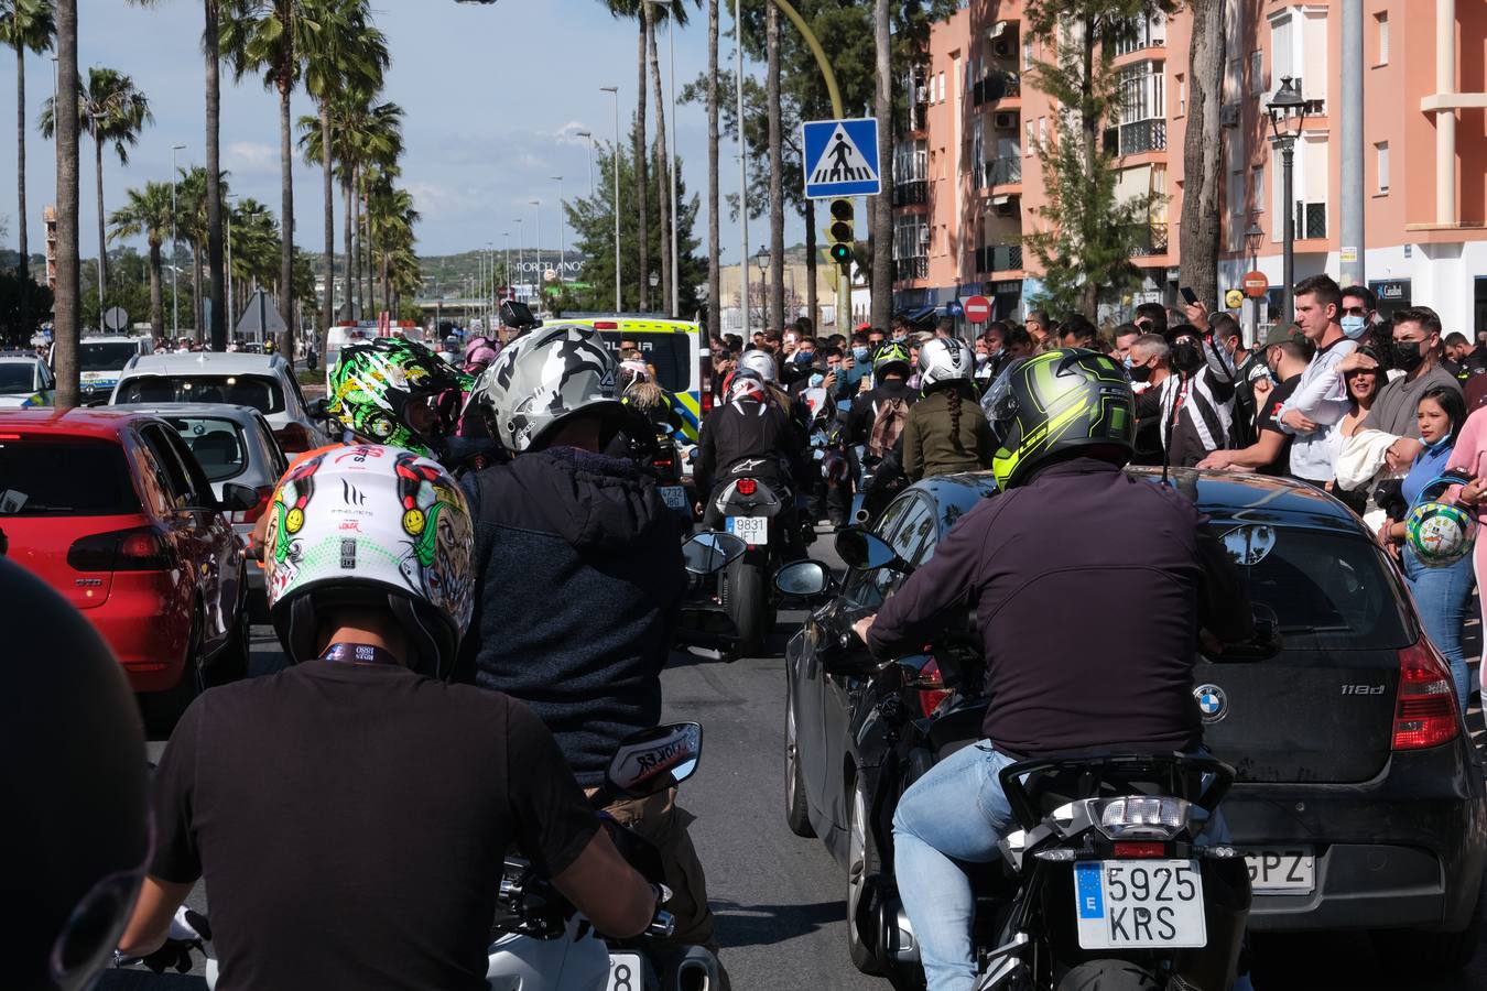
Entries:
<svg viewBox="0 0 1487 991">
<path fill-rule="evenodd" d="M 430 455 L 459 422 L 467 379 L 421 343 L 375 337 L 341 352 L 326 412 L 357 437 Z"/>
</svg>

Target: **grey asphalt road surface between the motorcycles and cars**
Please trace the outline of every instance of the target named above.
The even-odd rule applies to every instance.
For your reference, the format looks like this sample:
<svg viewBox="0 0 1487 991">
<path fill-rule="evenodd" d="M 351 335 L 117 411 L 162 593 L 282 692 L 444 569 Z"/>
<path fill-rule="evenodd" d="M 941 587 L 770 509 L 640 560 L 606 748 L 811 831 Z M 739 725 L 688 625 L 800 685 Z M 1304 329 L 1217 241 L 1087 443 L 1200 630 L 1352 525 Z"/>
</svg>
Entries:
<svg viewBox="0 0 1487 991">
<path fill-rule="evenodd" d="M 816 554 L 831 560 L 830 551 Z M 784 643 L 803 614 L 781 614 L 773 657 L 735 664 L 678 654 L 663 676 L 665 718 L 705 727 L 700 768 L 680 802 L 696 822 L 693 841 L 708 871 L 723 961 L 739 991 L 888 991 L 886 981 L 858 973 L 846 952 L 846 880 L 818 839 L 800 839 L 784 819 Z M 268 627 L 254 628 L 253 675 L 284 658 Z M 1478 716 L 1480 727 L 1480 716 Z M 152 743 L 155 756 L 162 743 Z M 205 909 L 201 887 L 190 903 Z M 1259 991 L 1468 991 L 1487 988 L 1487 942 L 1472 966 L 1444 981 L 1384 970 L 1359 935 L 1270 938 L 1257 942 Z M 1407 964 L 1405 964 L 1407 966 Z M 199 991 L 193 976 L 113 970 L 100 988 Z"/>
</svg>

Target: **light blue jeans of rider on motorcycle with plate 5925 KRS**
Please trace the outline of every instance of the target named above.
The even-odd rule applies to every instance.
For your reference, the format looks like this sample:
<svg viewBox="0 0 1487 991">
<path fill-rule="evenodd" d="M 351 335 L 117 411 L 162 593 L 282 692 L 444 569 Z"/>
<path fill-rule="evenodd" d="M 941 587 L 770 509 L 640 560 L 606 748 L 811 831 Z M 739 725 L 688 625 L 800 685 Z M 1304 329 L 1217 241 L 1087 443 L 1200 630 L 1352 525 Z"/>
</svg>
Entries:
<svg viewBox="0 0 1487 991">
<path fill-rule="evenodd" d="M 989 863 L 1016 825 L 1001 771 L 1016 764 L 989 740 L 962 747 L 909 786 L 894 811 L 894 877 L 919 942 L 928 991 L 974 991 L 975 894 L 956 860 Z M 1222 813 L 1197 841 L 1228 842 Z M 1251 988 L 1240 975 L 1234 991 Z"/>
</svg>

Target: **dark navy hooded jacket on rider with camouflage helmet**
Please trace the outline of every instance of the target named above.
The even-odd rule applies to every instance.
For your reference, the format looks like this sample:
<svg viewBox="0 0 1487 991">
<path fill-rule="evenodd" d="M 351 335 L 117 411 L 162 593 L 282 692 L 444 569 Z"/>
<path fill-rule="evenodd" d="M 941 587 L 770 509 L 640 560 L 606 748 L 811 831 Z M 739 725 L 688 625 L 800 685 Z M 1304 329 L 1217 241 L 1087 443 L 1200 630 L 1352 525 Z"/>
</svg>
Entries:
<svg viewBox="0 0 1487 991">
<path fill-rule="evenodd" d="M 480 587 L 461 657 L 547 724 L 584 787 L 660 721 L 660 672 L 687 576 L 681 529 L 629 461 L 572 447 L 461 483 Z"/>
</svg>

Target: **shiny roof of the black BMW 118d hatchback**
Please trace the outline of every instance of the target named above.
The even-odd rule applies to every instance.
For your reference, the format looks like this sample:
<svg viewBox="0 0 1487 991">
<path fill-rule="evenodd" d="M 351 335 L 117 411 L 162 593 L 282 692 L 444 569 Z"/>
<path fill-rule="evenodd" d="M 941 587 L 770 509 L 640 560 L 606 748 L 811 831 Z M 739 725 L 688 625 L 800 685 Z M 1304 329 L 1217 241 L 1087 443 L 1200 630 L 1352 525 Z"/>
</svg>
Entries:
<svg viewBox="0 0 1487 991">
<path fill-rule="evenodd" d="M 1161 481 L 1160 468 L 1129 467 L 1126 471 L 1152 484 Z M 1175 468 L 1169 472 L 1169 478 L 1170 483 L 1176 484 L 1178 492 L 1194 498 L 1199 510 L 1225 523 L 1274 523 L 1368 535 L 1364 524 L 1346 505 L 1292 478 L 1234 471 L 1194 471 L 1191 468 Z M 1191 484 L 1194 481 L 1196 486 Z M 965 471 L 923 478 L 915 487 L 931 495 L 937 504 L 956 505 L 965 513 L 975 499 L 996 492 L 996 478 L 990 471 Z M 949 522 L 953 523 L 953 520 Z"/>
</svg>

